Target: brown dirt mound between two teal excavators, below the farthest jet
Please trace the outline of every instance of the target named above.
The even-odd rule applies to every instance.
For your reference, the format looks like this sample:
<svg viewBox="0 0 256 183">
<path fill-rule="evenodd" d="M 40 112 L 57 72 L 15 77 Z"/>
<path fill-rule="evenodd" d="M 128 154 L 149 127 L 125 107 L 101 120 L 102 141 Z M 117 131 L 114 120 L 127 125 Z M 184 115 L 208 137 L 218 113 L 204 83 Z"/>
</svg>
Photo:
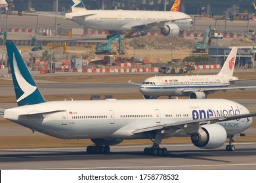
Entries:
<svg viewBox="0 0 256 183">
<path fill-rule="evenodd" d="M 172 45 L 174 50 L 192 49 L 194 48 L 195 43 L 196 42 L 194 40 L 186 40 L 182 37 L 150 35 L 125 40 L 125 44 L 129 44 L 130 47 L 146 50 L 171 49 Z M 127 48 L 128 46 L 125 47 Z"/>
</svg>

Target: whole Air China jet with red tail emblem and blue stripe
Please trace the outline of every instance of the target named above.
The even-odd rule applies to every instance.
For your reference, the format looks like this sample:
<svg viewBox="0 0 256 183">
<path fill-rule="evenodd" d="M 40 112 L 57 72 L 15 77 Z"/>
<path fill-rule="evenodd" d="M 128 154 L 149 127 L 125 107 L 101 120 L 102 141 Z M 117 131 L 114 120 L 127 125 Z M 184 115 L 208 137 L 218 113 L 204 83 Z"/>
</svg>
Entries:
<svg viewBox="0 0 256 183">
<path fill-rule="evenodd" d="M 238 81 L 233 76 L 238 48 L 233 47 L 226 58 L 223 68 L 217 75 L 191 76 L 154 76 L 138 84 L 144 99 L 157 99 L 159 96 L 188 96 L 190 99 L 205 99 L 208 94 L 217 91 L 245 90 L 256 86 L 228 87 Z"/>
</svg>

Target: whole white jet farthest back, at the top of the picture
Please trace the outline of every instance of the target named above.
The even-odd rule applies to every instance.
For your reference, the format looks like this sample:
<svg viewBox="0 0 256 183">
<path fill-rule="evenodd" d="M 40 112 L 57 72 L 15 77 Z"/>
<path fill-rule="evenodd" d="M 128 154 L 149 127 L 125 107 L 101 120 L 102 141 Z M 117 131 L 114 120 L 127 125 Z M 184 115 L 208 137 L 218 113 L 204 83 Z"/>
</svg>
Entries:
<svg viewBox="0 0 256 183">
<path fill-rule="evenodd" d="M 70 0 L 72 12 L 64 16 L 38 12 L 39 15 L 57 16 L 72 20 L 86 28 L 109 31 L 111 35 L 132 35 L 140 32 L 161 31 L 163 35 L 177 36 L 180 30 L 191 29 L 193 21 L 179 11 L 146 10 L 87 10 L 83 1 Z M 175 7 L 180 1 L 177 0 Z"/>
</svg>

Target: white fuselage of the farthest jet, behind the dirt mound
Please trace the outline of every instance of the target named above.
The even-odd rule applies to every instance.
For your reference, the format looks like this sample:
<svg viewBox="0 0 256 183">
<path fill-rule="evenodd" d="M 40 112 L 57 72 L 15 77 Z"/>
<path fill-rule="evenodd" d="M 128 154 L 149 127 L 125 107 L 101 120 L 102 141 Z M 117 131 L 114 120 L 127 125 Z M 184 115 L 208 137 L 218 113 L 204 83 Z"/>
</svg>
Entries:
<svg viewBox="0 0 256 183">
<path fill-rule="evenodd" d="M 85 17 L 84 17 L 84 16 Z M 80 17 L 79 17 L 80 16 Z M 161 11 L 142 11 L 142 10 L 85 10 L 82 12 L 71 12 L 65 15 L 67 19 L 83 25 L 87 28 L 102 31 L 159 31 L 157 22 L 177 20 L 177 25 L 181 30 L 192 28 L 192 19 L 182 12 L 161 12 Z M 182 20 L 184 19 L 184 20 Z M 156 22 L 156 26 L 150 26 L 149 29 L 143 30 L 137 25 L 147 25 Z M 133 27 L 136 27 L 133 29 Z"/>
</svg>

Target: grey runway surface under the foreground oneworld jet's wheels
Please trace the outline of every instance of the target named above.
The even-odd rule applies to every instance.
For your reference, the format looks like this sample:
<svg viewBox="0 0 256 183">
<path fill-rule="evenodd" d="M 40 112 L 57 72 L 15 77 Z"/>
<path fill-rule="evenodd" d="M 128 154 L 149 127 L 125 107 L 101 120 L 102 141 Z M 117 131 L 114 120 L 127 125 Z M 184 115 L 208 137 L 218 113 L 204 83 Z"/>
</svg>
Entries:
<svg viewBox="0 0 256 183">
<path fill-rule="evenodd" d="M 163 144 L 166 157 L 143 155 L 146 146 L 112 146 L 108 155 L 86 154 L 85 148 L 1 149 L 0 169 L 256 169 L 256 142 L 237 143 L 234 152 Z"/>
</svg>

